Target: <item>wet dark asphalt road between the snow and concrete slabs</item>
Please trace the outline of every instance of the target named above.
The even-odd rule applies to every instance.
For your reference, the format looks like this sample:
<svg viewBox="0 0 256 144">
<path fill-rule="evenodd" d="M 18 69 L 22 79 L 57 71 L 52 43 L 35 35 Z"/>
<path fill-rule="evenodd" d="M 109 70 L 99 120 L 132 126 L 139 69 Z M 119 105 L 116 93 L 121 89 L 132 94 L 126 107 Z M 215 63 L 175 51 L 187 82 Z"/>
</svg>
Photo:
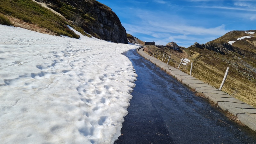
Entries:
<svg viewBox="0 0 256 144">
<path fill-rule="evenodd" d="M 136 50 L 124 55 L 138 77 L 122 135 L 115 144 L 256 144 L 256 132 L 228 120 Z"/>
</svg>

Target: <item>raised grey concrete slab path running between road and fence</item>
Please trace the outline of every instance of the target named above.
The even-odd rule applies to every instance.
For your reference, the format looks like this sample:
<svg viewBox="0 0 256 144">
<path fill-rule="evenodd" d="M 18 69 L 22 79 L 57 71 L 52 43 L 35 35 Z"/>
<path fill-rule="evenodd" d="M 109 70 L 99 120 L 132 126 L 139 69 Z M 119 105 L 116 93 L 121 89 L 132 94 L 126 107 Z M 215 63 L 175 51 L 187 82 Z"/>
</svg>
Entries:
<svg viewBox="0 0 256 144">
<path fill-rule="evenodd" d="M 232 113 L 234 116 L 237 116 L 237 118 L 243 124 L 247 125 L 253 131 L 256 131 L 256 108 L 242 102 L 241 100 L 234 98 L 233 96 L 228 95 L 225 92 L 222 92 L 212 87 L 209 84 L 205 84 L 204 82 L 180 71 L 179 69 L 167 65 L 161 60 L 158 60 L 148 55 L 143 50 L 144 47 L 140 47 L 137 49 L 137 52 L 145 59 L 156 64 L 156 66 L 162 68 L 167 73 L 170 73 L 182 83 L 195 89 L 196 92 L 203 93 L 208 100 L 213 101 L 214 103 L 218 104 L 218 106 L 223 110 Z"/>
</svg>

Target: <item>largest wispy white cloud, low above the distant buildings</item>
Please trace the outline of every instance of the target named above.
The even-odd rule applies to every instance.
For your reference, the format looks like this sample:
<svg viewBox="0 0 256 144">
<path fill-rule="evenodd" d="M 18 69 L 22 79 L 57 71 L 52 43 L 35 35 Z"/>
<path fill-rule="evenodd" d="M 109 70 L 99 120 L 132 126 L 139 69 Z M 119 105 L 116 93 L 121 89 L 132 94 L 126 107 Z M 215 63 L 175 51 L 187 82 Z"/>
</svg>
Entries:
<svg viewBox="0 0 256 144">
<path fill-rule="evenodd" d="M 206 43 L 228 32 L 225 25 L 212 28 L 190 25 L 190 20 L 168 13 L 157 13 L 145 10 L 135 10 L 137 22 L 135 24 L 123 23 L 127 33 L 132 35 L 147 35 L 146 41 L 155 41 L 156 44 L 177 42 L 188 47 L 195 42 Z M 172 19 L 166 19 L 166 18 Z M 189 22 L 188 22 L 189 21 Z M 187 24 L 186 24 L 187 23 Z M 212 37 L 214 37 L 212 39 Z"/>
</svg>

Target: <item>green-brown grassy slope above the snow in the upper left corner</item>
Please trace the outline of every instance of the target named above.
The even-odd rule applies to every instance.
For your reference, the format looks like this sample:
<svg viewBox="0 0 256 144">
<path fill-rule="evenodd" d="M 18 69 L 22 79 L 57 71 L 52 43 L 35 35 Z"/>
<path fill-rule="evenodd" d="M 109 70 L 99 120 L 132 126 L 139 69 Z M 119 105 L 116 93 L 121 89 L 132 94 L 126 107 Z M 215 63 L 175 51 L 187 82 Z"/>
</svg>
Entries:
<svg viewBox="0 0 256 144">
<path fill-rule="evenodd" d="M 0 13 L 11 21 L 18 19 L 28 25 L 32 24 L 36 27 L 44 28 L 59 36 L 79 38 L 78 35 L 66 26 L 72 25 L 70 22 L 32 0 L 2 0 L 0 3 Z"/>
</svg>

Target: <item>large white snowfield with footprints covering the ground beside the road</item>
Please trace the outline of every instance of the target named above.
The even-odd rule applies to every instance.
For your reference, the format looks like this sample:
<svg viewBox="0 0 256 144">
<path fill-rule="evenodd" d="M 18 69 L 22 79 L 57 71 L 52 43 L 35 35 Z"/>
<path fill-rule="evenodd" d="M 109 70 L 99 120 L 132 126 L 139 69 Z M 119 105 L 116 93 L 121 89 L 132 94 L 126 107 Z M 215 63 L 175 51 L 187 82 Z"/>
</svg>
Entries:
<svg viewBox="0 0 256 144">
<path fill-rule="evenodd" d="M 114 143 L 136 80 L 121 53 L 138 46 L 0 30 L 1 143 Z"/>
</svg>

